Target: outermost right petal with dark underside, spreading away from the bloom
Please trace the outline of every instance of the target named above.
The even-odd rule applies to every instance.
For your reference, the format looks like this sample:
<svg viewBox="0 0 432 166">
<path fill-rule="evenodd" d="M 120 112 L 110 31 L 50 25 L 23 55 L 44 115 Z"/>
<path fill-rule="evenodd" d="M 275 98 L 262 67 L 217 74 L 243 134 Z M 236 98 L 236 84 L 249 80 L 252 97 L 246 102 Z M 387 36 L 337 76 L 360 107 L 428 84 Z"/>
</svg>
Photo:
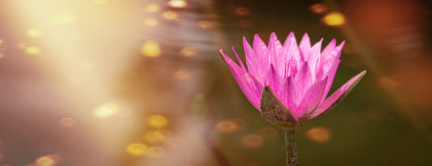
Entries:
<svg viewBox="0 0 432 166">
<path fill-rule="evenodd" d="M 352 77 L 351 80 L 342 85 L 338 90 L 335 91 L 335 93 L 330 95 L 329 98 L 326 98 L 326 100 L 324 100 L 324 102 L 319 105 L 315 112 L 313 112 L 310 117 L 308 117 L 308 120 L 315 118 L 322 113 L 326 113 L 326 111 L 329 111 L 336 107 L 336 105 L 338 105 L 348 95 L 348 93 L 352 89 L 354 89 L 354 86 L 356 86 L 356 84 L 360 82 L 360 80 L 363 78 L 363 76 L 365 76 L 365 74 L 366 71 L 363 71 L 362 73 L 359 73 L 358 75 Z"/>
</svg>

